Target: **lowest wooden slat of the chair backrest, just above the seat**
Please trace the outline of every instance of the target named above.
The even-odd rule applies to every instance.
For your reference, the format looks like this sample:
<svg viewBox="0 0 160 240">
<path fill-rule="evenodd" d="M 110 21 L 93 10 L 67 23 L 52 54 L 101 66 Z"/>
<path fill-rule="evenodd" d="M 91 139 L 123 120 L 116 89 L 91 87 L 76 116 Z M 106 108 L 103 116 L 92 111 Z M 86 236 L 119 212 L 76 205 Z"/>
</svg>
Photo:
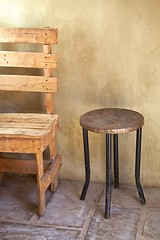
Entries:
<svg viewBox="0 0 160 240">
<path fill-rule="evenodd" d="M 0 90 L 57 92 L 57 82 L 56 77 L 0 75 Z"/>
</svg>

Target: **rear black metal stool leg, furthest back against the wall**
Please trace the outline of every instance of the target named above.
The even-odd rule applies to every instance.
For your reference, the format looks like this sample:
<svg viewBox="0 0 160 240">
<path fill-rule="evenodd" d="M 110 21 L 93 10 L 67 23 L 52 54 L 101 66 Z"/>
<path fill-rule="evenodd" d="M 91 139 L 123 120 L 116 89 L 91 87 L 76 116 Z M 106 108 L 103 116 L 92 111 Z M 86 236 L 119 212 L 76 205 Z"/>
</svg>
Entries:
<svg viewBox="0 0 160 240">
<path fill-rule="evenodd" d="M 118 134 L 113 135 L 114 145 L 114 187 L 119 188 Z"/>
</svg>

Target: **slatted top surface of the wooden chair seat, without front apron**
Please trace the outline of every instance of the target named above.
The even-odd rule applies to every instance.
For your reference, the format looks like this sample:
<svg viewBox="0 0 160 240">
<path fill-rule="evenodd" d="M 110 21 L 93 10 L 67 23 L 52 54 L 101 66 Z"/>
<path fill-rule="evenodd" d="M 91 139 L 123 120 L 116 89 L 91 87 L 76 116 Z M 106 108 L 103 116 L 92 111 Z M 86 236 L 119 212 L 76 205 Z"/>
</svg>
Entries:
<svg viewBox="0 0 160 240">
<path fill-rule="evenodd" d="M 45 137 L 58 123 L 58 115 L 0 113 L 0 138 Z"/>
</svg>

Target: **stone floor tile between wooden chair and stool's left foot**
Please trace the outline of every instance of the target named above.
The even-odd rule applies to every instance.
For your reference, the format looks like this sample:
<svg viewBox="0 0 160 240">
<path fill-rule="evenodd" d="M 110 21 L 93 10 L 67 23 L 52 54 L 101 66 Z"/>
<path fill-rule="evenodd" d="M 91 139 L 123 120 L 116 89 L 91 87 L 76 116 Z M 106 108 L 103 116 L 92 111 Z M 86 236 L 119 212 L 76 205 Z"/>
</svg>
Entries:
<svg viewBox="0 0 160 240">
<path fill-rule="evenodd" d="M 91 183 L 85 201 L 81 201 L 81 185 L 78 182 L 61 181 L 47 205 L 45 215 L 34 224 L 81 228 L 90 208 L 102 194 L 101 185 Z"/>
</svg>

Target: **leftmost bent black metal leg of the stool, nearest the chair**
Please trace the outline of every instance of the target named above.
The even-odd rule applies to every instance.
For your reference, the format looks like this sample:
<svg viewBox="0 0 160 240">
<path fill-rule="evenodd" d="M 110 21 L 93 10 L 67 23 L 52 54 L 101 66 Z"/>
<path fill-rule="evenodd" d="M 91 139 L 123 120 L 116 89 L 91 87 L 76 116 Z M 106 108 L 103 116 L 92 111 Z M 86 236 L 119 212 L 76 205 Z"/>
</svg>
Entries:
<svg viewBox="0 0 160 240">
<path fill-rule="evenodd" d="M 90 182 L 90 160 L 89 160 L 89 143 L 88 143 L 88 130 L 83 128 L 83 145 L 84 145 L 84 160 L 85 160 L 85 174 L 86 179 L 84 183 L 84 187 L 80 196 L 80 200 L 84 200 L 87 189 Z"/>
</svg>

